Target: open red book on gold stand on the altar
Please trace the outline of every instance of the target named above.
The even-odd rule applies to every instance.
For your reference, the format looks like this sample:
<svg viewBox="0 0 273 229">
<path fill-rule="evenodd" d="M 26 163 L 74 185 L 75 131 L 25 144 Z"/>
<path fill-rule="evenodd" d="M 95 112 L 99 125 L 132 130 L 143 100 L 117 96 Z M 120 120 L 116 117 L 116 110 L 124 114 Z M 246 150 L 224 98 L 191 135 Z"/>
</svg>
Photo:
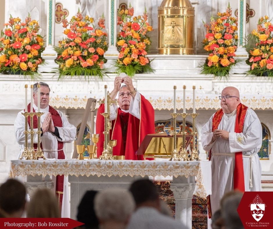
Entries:
<svg viewBox="0 0 273 229">
<path fill-rule="evenodd" d="M 177 134 L 177 152 L 180 153 L 182 150 L 183 135 Z M 191 135 L 185 135 L 185 148 L 192 139 Z M 155 157 L 155 158 L 168 158 L 173 152 L 173 136 L 167 135 L 166 133 L 159 134 L 147 134 L 139 149 L 137 150 L 137 155 L 144 155 L 144 157 Z"/>
</svg>

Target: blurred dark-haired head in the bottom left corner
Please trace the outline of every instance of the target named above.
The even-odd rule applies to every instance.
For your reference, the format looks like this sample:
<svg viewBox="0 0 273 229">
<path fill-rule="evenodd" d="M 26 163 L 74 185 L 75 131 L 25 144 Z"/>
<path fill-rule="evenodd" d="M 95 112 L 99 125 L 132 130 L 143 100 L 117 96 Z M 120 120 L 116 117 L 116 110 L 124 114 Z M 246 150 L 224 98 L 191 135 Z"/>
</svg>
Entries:
<svg viewBox="0 0 273 229">
<path fill-rule="evenodd" d="M 21 217 L 26 205 L 26 188 L 15 179 L 0 186 L 0 210 L 5 217 Z"/>
</svg>

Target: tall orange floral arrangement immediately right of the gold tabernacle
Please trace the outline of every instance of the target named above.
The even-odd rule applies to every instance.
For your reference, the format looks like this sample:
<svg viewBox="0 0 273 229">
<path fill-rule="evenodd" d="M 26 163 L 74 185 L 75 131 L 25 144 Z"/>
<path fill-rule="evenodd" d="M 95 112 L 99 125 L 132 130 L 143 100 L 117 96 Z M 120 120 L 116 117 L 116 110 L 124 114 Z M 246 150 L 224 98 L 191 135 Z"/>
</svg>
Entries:
<svg viewBox="0 0 273 229">
<path fill-rule="evenodd" d="M 231 17 L 231 12 L 228 5 L 226 12 L 218 12 L 217 17 L 211 17 L 210 26 L 203 22 L 207 30 L 203 46 L 209 52 L 209 57 L 201 67 L 201 74 L 227 78 L 230 69 L 237 62 L 234 56 L 238 41 L 238 21 L 237 18 Z"/>
</svg>

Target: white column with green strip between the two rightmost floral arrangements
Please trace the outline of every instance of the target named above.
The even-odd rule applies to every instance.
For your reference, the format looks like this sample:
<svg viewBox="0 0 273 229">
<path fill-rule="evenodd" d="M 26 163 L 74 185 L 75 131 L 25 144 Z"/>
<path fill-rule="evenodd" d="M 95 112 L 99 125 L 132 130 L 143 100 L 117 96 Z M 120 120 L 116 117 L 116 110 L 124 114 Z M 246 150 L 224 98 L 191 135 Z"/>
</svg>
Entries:
<svg viewBox="0 0 273 229">
<path fill-rule="evenodd" d="M 232 72 L 237 74 L 243 74 L 249 70 L 249 65 L 245 62 L 248 59 L 248 53 L 243 47 L 245 45 L 246 13 L 246 0 L 238 0 L 238 48 L 235 52 L 235 59 L 240 62 L 232 68 Z"/>
</svg>

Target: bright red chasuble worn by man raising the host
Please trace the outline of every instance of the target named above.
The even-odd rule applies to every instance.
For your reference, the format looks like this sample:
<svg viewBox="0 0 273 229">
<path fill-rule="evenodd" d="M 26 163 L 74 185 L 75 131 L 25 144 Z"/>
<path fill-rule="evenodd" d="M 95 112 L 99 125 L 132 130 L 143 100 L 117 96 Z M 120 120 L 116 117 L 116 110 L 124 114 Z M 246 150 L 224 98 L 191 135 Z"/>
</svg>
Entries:
<svg viewBox="0 0 273 229">
<path fill-rule="evenodd" d="M 117 110 L 117 117 L 112 121 L 110 139 L 116 139 L 117 144 L 113 148 L 113 155 L 125 155 L 125 160 L 143 160 L 142 155 L 136 155 L 137 150 L 147 134 L 155 133 L 155 111 L 151 103 L 140 95 L 140 120 L 132 114 Z M 103 151 L 104 142 L 104 104 L 98 108 L 96 133 L 100 134 L 97 143 L 99 157 Z M 127 128 L 124 128 L 124 126 Z"/>
</svg>

